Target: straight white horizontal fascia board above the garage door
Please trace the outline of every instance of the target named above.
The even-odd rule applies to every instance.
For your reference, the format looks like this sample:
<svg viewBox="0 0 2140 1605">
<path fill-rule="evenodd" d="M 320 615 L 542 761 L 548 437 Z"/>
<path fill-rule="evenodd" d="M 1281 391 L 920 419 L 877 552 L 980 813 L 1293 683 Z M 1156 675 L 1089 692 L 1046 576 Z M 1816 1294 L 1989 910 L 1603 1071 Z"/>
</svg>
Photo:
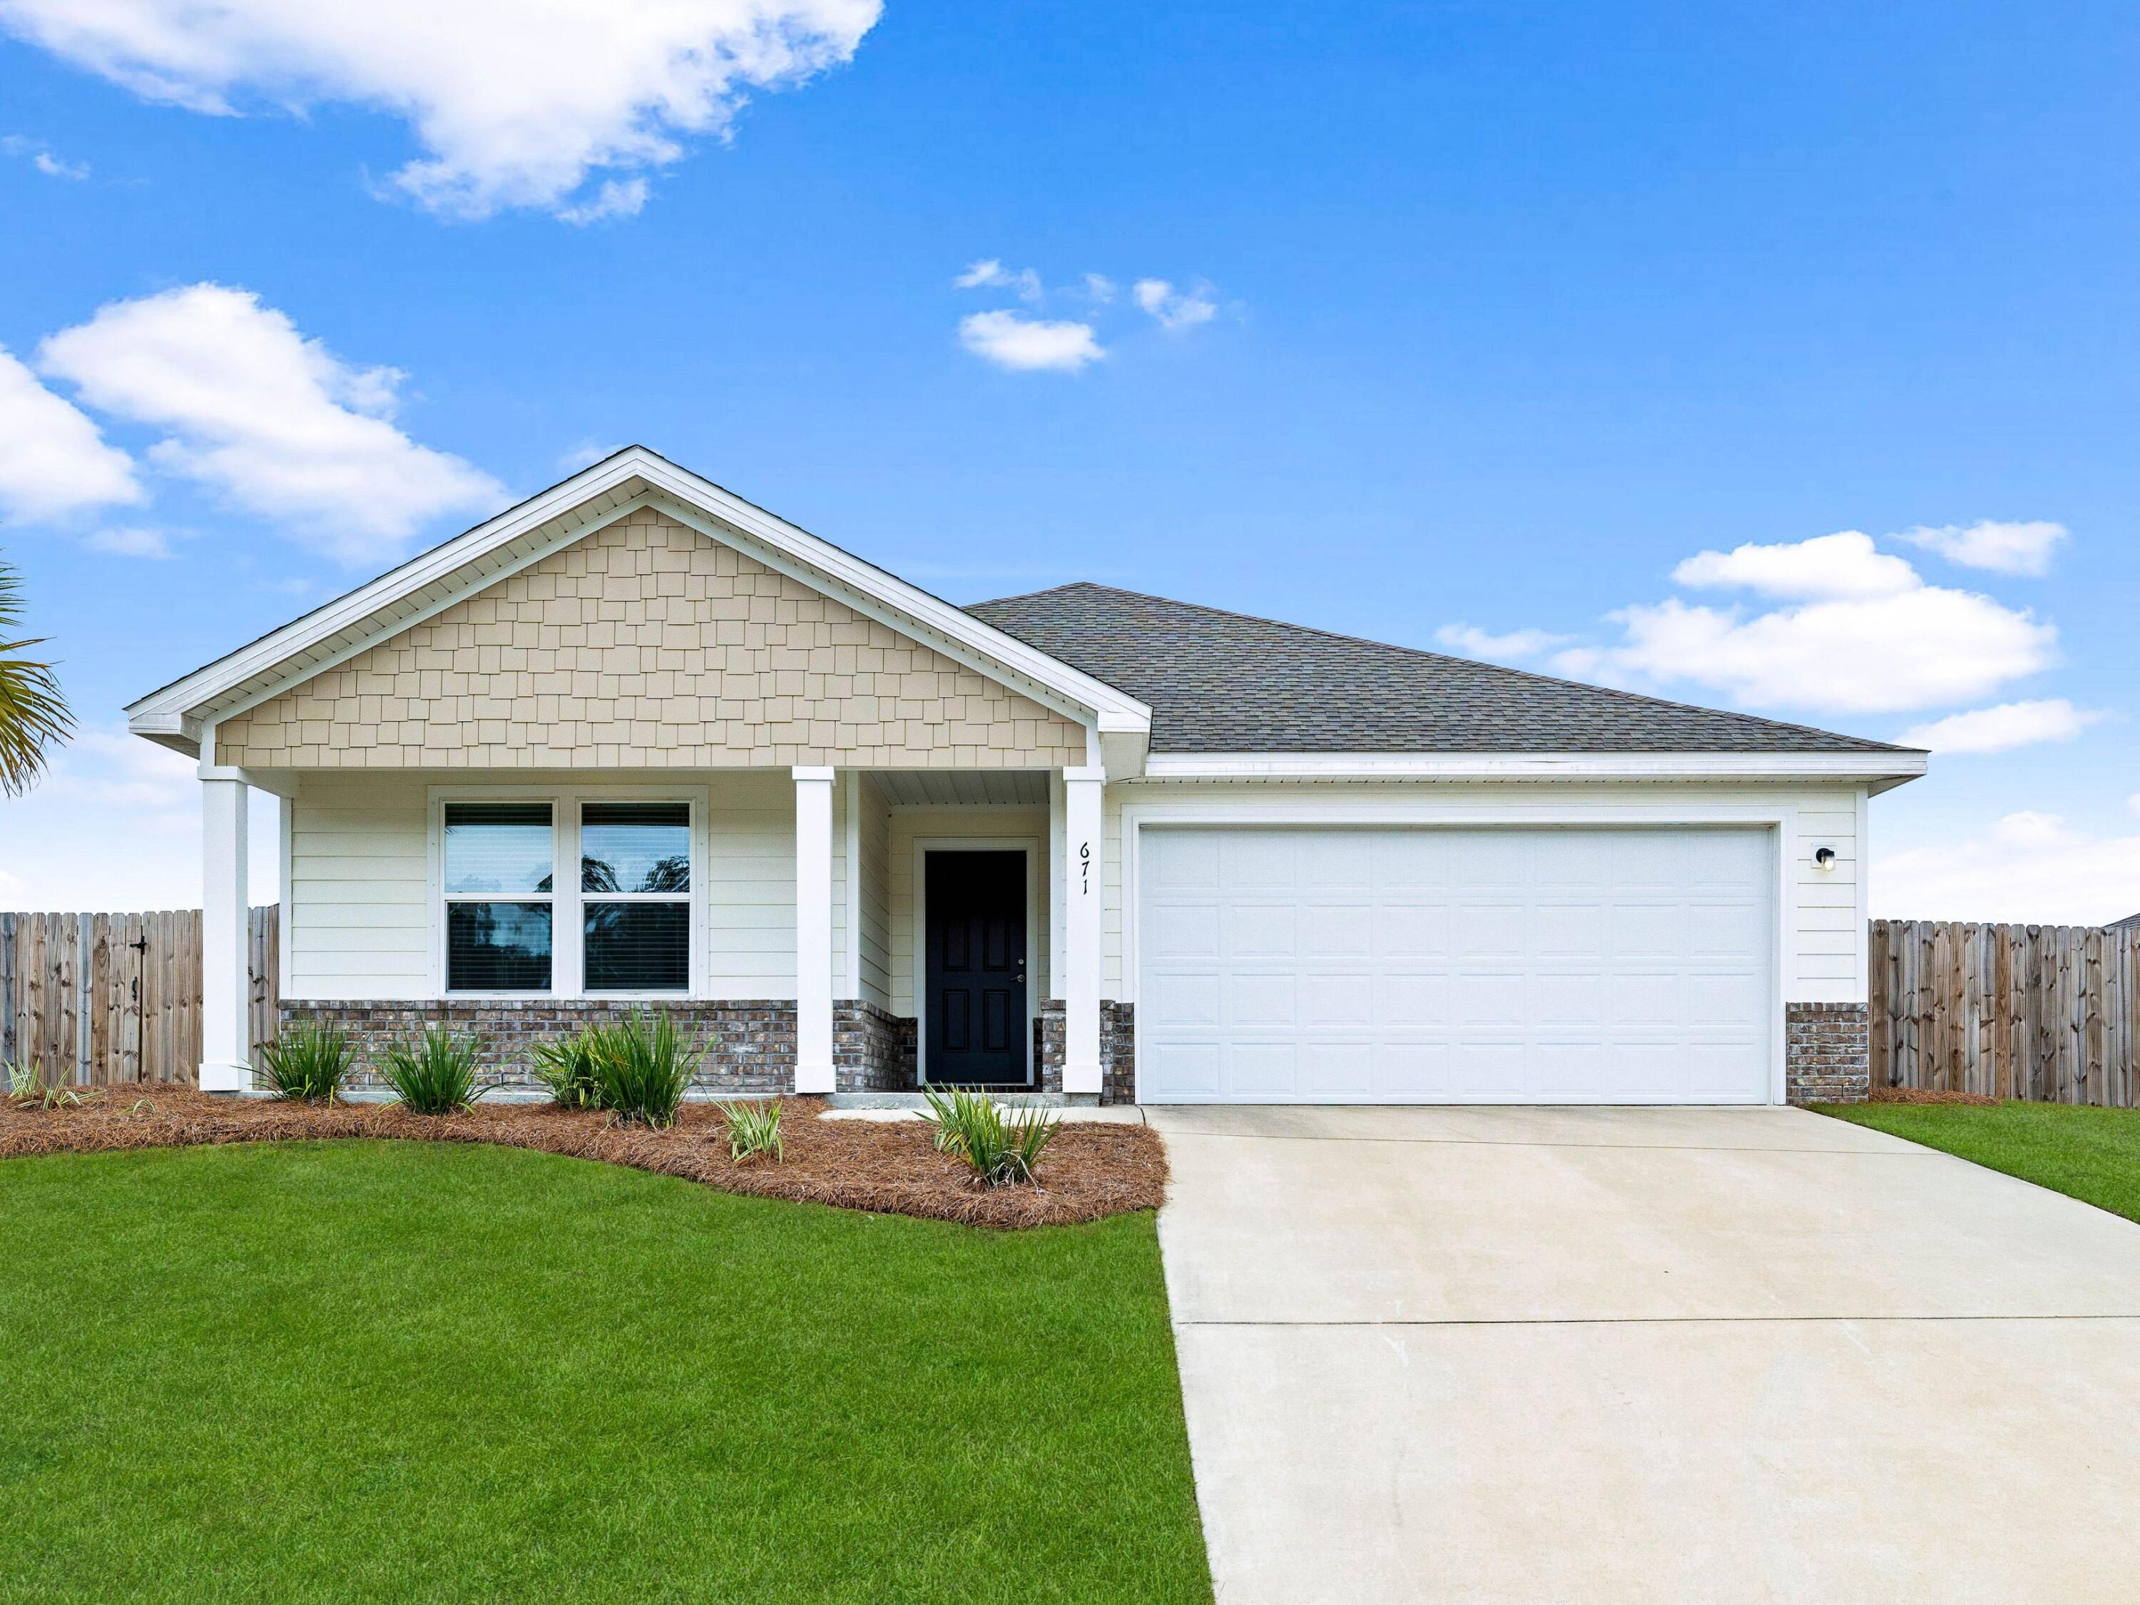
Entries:
<svg viewBox="0 0 2140 1605">
<path fill-rule="evenodd" d="M 1153 781 L 1902 781 L 1926 753 L 1151 753 Z"/>
</svg>

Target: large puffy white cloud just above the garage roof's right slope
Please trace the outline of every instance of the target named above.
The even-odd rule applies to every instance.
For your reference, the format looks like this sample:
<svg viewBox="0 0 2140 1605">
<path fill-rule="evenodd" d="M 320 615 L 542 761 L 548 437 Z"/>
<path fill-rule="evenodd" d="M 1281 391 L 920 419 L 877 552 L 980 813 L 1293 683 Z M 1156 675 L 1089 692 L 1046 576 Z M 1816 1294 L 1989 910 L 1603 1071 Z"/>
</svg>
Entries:
<svg viewBox="0 0 2140 1605">
<path fill-rule="evenodd" d="M 2059 631 L 2027 608 L 1926 584 L 1858 531 L 1789 546 L 1703 552 L 1682 582 L 1793 599 L 1772 612 L 1667 597 L 1607 614 L 1622 640 L 1571 646 L 1562 674 L 1697 685 L 1751 708 L 1907 713 L 1975 702 L 2050 668 Z"/>
</svg>

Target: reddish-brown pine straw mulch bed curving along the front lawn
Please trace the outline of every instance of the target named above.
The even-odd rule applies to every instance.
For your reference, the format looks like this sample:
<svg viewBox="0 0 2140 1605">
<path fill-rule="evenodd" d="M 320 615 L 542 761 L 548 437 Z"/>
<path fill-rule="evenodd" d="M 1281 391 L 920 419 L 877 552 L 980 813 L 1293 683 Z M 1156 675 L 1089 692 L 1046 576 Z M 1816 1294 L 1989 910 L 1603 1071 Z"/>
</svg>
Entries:
<svg viewBox="0 0 2140 1605">
<path fill-rule="evenodd" d="M 1166 1151 L 1147 1126 L 1066 1121 L 1034 1186 L 984 1188 L 935 1151 L 924 1121 L 817 1119 L 817 1098 L 783 1100 L 779 1164 L 728 1158 L 710 1104 L 685 1104 L 674 1128 L 616 1126 L 550 1104 L 477 1104 L 464 1115 L 411 1115 L 396 1104 L 295 1104 L 212 1098 L 193 1087 L 109 1087 L 62 1109 L 0 1104 L 0 1160 L 137 1147 L 317 1141 L 334 1136 L 496 1143 L 702 1181 L 753 1198 L 922 1216 L 967 1226 L 1064 1226 L 1158 1209 Z"/>
</svg>

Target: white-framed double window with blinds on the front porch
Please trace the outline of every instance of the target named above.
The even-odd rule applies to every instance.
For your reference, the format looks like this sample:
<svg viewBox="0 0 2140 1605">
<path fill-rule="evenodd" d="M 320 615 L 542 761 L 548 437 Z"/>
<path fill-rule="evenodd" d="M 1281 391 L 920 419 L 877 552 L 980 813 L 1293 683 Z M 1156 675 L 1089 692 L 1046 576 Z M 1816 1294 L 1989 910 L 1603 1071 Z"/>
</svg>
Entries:
<svg viewBox="0 0 2140 1605">
<path fill-rule="evenodd" d="M 563 888 L 561 828 L 580 850 Z M 447 802 L 443 860 L 447 991 L 689 991 L 689 802 Z"/>
</svg>

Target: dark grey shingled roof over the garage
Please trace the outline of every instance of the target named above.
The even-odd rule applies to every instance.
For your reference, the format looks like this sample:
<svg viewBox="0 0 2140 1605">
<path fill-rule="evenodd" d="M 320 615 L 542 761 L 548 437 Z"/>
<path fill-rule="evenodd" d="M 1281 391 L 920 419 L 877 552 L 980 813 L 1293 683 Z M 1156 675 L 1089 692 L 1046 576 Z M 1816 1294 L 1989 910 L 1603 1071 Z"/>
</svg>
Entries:
<svg viewBox="0 0 2140 1605">
<path fill-rule="evenodd" d="M 1153 753 L 1909 753 L 1188 601 L 1064 584 L 967 608 L 1151 704 Z"/>
</svg>

